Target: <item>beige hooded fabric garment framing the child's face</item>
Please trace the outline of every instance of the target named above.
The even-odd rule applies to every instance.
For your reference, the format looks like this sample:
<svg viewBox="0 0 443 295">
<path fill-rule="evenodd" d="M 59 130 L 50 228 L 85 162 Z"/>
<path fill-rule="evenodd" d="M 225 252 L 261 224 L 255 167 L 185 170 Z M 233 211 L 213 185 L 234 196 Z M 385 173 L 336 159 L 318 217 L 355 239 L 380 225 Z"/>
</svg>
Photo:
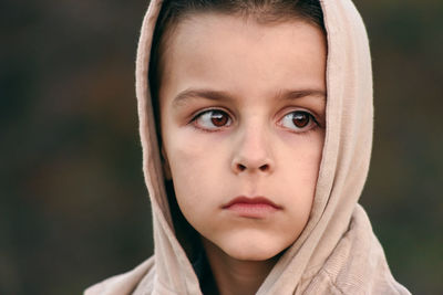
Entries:
<svg viewBox="0 0 443 295">
<path fill-rule="evenodd" d="M 153 210 L 154 255 L 85 294 L 202 294 L 176 236 L 148 83 L 161 0 L 144 18 L 136 60 L 143 170 Z M 372 70 L 364 24 L 350 0 L 321 1 L 328 40 L 327 130 L 310 219 L 257 294 L 410 294 L 395 282 L 360 198 L 372 145 Z M 192 241 L 188 241 L 192 242 Z"/>
</svg>

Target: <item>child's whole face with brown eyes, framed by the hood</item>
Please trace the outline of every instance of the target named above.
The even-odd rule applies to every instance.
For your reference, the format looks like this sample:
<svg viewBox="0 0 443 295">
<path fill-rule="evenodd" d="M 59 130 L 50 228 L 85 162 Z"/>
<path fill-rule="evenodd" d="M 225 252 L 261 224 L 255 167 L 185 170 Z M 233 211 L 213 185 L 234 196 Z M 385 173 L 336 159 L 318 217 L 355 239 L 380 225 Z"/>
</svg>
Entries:
<svg viewBox="0 0 443 295">
<path fill-rule="evenodd" d="M 303 21 L 197 14 L 172 33 L 161 128 L 179 208 L 231 257 L 267 260 L 311 211 L 326 117 L 326 38 Z M 264 197 L 275 206 L 238 202 Z"/>
</svg>

